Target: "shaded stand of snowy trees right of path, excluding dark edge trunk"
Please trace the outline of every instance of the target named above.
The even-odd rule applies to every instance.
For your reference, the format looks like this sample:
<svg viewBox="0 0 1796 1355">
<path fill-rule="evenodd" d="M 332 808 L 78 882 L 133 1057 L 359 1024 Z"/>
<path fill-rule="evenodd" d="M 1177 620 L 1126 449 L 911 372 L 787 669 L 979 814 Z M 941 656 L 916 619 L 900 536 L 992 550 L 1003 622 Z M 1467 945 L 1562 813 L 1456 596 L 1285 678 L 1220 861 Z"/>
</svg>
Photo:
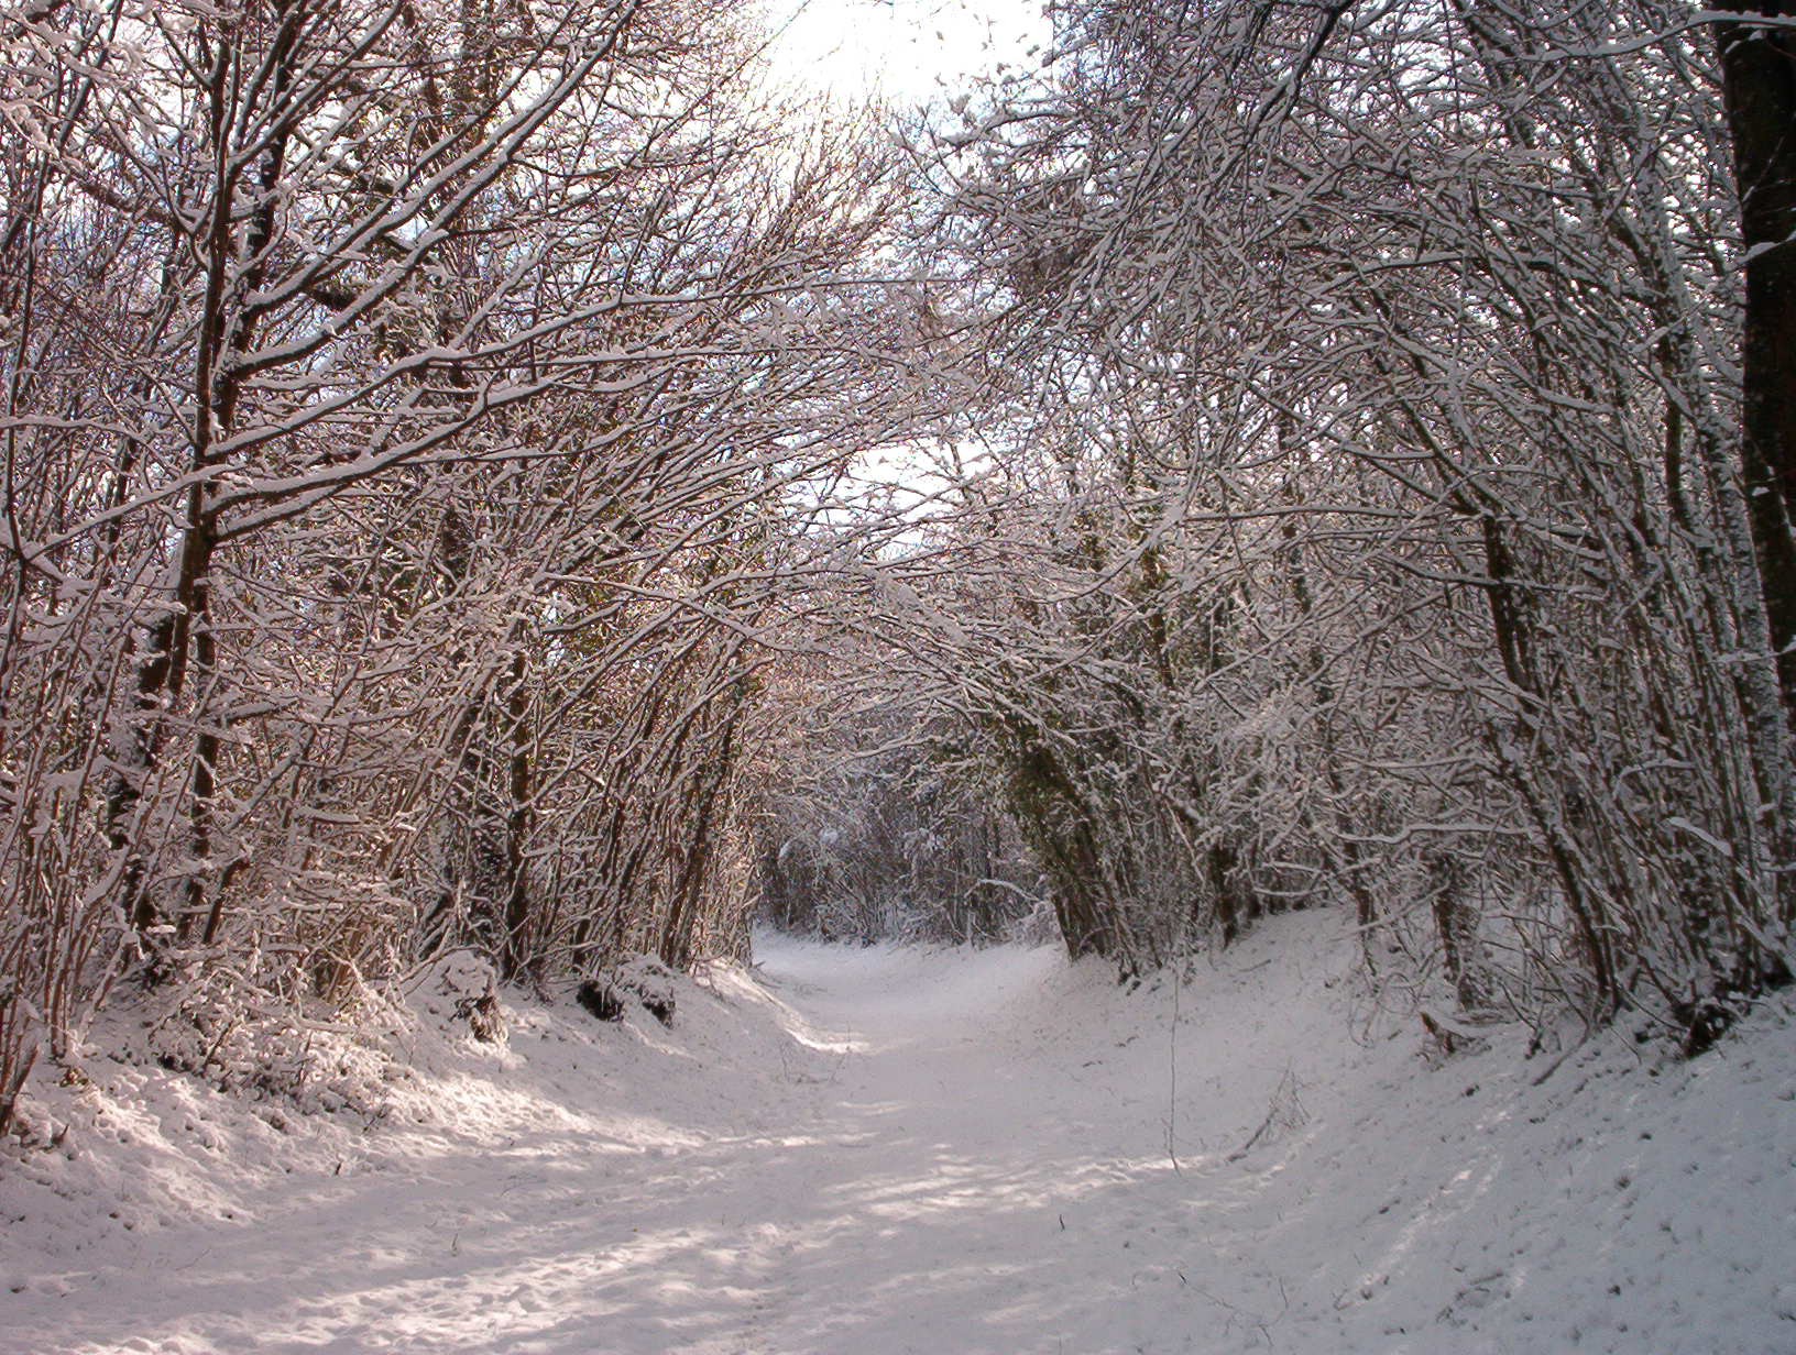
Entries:
<svg viewBox="0 0 1796 1355">
<path fill-rule="evenodd" d="M 1058 79 L 970 106 L 938 165 L 968 305 L 1036 397 L 999 474 L 1052 508 L 1004 529 L 1083 576 L 1020 612 L 1079 689 L 1038 781 L 1185 768 L 1126 815 L 1114 790 L 1022 808 L 1067 888 L 1121 869 L 1117 822 L 1173 813 L 1225 933 L 1221 881 L 1252 912 L 1307 876 L 1399 942 L 1406 899 L 1444 903 L 1462 994 L 1487 942 L 1509 992 L 1598 1019 L 1774 982 L 1791 747 L 1701 31 L 1652 5 L 1058 18 Z M 1049 641 L 1069 625 L 1090 639 Z M 1207 635 L 1219 662 L 1155 693 Z M 1158 874 L 1094 903 L 1108 949 L 1149 944 Z M 1467 878 L 1498 901 L 1478 924 Z"/>
</svg>

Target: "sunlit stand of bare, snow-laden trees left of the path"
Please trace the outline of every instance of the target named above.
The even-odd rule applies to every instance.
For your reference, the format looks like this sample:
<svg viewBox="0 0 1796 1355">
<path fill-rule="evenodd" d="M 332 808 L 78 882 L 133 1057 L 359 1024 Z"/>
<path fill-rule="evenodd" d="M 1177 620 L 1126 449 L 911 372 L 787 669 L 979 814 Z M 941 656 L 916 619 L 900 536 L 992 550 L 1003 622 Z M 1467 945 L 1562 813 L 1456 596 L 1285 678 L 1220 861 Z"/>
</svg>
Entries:
<svg viewBox="0 0 1796 1355">
<path fill-rule="evenodd" d="M 618 958 L 551 890 L 618 854 L 665 883 L 620 942 L 740 919 L 783 504 L 900 415 L 889 158 L 756 102 L 726 11 L 5 14 L 4 1106 L 138 957 L 228 1032 L 431 915 Z M 569 788 L 645 702 L 661 800 L 605 840 Z"/>
</svg>

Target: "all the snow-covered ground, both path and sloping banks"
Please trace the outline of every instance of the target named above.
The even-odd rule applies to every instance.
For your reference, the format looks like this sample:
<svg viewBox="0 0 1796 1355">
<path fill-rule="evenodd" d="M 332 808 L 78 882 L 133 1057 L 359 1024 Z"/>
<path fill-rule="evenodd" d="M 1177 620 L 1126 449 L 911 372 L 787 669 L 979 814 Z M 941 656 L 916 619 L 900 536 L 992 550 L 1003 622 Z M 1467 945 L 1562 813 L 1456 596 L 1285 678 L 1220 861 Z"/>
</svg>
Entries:
<svg viewBox="0 0 1796 1355">
<path fill-rule="evenodd" d="M 1694 1062 L 1440 1061 L 1324 914 L 1180 992 L 1017 948 L 756 976 L 672 1030 L 426 1023 L 384 1115 L 90 1059 L 0 1159 L 0 1348 L 1796 1351 L 1787 1003 Z"/>
</svg>

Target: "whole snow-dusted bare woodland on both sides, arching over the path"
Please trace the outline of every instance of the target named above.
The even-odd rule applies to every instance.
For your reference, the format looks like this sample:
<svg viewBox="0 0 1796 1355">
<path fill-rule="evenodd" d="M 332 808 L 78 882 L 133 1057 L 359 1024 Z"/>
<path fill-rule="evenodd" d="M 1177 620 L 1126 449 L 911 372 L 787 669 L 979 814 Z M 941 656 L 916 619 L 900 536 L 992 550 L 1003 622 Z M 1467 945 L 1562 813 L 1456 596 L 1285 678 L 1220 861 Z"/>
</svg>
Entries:
<svg viewBox="0 0 1796 1355">
<path fill-rule="evenodd" d="M 0 1129 L 756 917 L 1791 980 L 1796 9 L 1047 11 L 819 109 L 733 0 L 0 7 Z"/>
</svg>

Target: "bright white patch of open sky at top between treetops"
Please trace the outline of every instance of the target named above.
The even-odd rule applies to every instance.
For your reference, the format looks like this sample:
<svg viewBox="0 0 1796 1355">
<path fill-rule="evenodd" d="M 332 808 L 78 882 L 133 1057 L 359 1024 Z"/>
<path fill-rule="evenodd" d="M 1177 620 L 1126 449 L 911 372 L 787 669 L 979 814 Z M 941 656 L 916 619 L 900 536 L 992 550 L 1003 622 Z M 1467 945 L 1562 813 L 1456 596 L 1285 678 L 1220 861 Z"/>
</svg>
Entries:
<svg viewBox="0 0 1796 1355">
<path fill-rule="evenodd" d="M 896 102 L 954 95 L 999 65 L 1038 65 L 1042 0 L 767 0 L 790 18 L 774 65 L 797 86 Z M 1033 48 L 1033 50 L 1031 50 Z"/>
</svg>

